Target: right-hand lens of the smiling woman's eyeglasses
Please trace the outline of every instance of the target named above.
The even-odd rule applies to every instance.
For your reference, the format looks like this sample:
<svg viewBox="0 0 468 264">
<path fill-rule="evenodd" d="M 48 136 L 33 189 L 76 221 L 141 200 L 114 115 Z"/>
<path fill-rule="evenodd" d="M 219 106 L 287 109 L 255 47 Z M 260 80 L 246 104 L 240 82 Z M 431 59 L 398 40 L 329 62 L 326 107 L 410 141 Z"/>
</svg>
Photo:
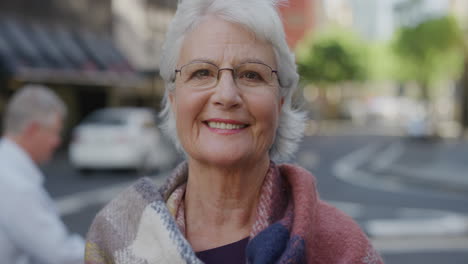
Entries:
<svg viewBox="0 0 468 264">
<path fill-rule="evenodd" d="M 244 86 L 271 85 L 273 72 L 265 64 L 249 62 L 236 68 L 236 78 L 237 82 Z"/>
</svg>

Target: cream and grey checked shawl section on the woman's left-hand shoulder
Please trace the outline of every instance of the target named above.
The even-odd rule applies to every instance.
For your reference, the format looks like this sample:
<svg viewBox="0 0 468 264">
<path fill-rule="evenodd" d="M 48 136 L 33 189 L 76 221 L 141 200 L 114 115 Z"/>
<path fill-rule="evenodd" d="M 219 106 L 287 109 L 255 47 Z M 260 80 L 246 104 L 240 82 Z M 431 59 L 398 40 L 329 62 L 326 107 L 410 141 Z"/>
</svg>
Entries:
<svg viewBox="0 0 468 264">
<path fill-rule="evenodd" d="M 166 263 L 169 259 L 182 263 L 180 248 L 191 254 L 161 191 L 144 178 L 94 218 L 86 238 L 85 263 Z"/>
</svg>

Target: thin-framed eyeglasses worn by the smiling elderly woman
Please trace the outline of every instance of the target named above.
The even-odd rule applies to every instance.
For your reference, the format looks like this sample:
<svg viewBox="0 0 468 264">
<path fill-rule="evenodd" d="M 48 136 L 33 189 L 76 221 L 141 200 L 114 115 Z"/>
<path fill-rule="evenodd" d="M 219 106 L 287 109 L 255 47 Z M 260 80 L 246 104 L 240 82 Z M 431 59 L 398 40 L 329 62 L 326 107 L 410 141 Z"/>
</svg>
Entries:
<svg viewBox="0 0 468 264">
<path fill-rule="evenodd" d="M 195 61 L 185 64 L 175 70 L 175 73 L 176 75 L 180 73 L 184 85 L 195 89 L 205 89 L 216 86 L 219 73 L 223 70 L 232 72 L 234 82 L 240 88 L 274 86 L 276 80 L 273 73 L 278 75 L 278 71 L 261 62 L 246 62 L 234 68 L 219 68 L 211 62 Z"/>
</svg>

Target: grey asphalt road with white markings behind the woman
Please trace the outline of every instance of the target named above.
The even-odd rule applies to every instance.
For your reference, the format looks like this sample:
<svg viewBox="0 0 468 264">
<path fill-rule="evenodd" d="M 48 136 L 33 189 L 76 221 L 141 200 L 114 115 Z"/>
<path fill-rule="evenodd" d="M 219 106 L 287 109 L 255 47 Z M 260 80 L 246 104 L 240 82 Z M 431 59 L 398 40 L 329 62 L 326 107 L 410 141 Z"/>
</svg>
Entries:
<svg viewBox="0 0 468 264">
<path fill-rule="evenodd" d="M 468 259 L 467 146 L 341 128 L 306 137 L 296 162 L 316 176 L 322 199 L 361 225 L 385 263 L 461 264 Z M 138 177 L 80 175 L 65 152 L 44 170 L 65 223 L 82 235 L 103 204 Z M 167 173 L 152 178 L 161 183 Z"/>
</svg>

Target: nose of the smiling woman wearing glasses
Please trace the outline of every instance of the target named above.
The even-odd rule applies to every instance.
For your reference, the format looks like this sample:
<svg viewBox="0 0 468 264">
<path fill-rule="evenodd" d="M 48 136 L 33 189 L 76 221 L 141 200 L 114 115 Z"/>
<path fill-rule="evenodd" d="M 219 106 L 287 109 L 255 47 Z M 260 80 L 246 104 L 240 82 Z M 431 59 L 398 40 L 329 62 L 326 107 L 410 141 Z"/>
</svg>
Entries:
<svg viewBox="0 0 468 264">
<path fill-rule="evenodd" d="M 240 107 L 242 105 L 242 97 L 239 87 L 234 81 L 232 69 L 220 69 L 218 75 L 219 81 L 212 95 L 213 103 L 223 109 Z"/>
</svg>

